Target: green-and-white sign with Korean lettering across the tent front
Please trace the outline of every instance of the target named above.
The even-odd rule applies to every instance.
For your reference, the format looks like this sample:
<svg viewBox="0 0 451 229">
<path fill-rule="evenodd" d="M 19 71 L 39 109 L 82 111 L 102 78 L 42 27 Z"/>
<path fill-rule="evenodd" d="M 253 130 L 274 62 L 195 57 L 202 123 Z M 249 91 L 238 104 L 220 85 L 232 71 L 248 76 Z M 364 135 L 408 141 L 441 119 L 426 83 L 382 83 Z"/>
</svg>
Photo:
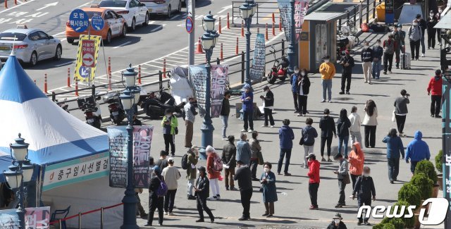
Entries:
<svg viewBox="0 0 451 229">
<path fill-rule="evenodd" d="M 104 177 L 109 171 L 108 158 L 108 152 L 104 152 L 45 166 L 42 191 Z"/>
</svg>

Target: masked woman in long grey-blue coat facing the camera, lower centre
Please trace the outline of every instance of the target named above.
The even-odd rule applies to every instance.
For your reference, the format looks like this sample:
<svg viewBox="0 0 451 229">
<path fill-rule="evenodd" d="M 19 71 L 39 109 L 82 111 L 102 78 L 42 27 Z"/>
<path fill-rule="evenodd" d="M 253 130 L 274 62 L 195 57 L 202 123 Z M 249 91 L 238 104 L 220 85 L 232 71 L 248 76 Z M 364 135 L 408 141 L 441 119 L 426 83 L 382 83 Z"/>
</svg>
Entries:
<svg viewBox="0 0 451 229">
<path fill-rule="evenodd" d="M 261 173 L 260 183 L 263 193 L 263 202 L 265 204 L 265 213 L 261 216 L 272 217 L 274 214 L 274 202 L 277 202 L 276 175 L 271 172 L 273 165 L 266 161 L 264 163 L 264 172 Z"/>
</svg>

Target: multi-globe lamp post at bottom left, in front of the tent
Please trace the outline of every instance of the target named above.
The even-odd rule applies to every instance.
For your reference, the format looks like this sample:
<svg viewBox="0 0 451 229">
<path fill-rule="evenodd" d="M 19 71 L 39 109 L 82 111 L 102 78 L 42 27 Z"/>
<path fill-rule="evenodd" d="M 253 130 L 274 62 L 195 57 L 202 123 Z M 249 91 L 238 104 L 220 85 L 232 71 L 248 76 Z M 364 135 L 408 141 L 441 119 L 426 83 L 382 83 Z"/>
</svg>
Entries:
<svg viewBox="0 0 451 229">
<path fill-rule="evenodd" d="M 9 166 L 9 171 L 4 171 L 6 181 L 11 190 L 17 191 L 19 199 L 17 213 L 19 216 L 20 229 L 25 229 L 25 206 L 23 199 L 25 197 L 25 182 L 30 182 L 35 166 L 28 160 L 28 143 L 20 136 L 15 140 L 15 143 L 10 144 L 11 158 L 13 158 L 13 165 Z"/>
</svg>

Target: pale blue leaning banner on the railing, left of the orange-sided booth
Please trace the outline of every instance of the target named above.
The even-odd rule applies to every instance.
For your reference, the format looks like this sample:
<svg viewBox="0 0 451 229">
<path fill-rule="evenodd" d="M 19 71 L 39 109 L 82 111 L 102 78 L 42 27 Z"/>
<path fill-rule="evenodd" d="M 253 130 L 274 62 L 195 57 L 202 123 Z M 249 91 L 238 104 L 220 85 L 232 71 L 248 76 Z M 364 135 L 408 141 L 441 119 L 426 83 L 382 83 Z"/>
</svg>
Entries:
<svg viewBox="0 0 451 229">
<path fill-rule="evenodd" d="M 249 72 L 251 80 L 261 81 L 265 74 L 265 36 L 257 34 L 255 39 L 254 61 Z"/>
</svg>

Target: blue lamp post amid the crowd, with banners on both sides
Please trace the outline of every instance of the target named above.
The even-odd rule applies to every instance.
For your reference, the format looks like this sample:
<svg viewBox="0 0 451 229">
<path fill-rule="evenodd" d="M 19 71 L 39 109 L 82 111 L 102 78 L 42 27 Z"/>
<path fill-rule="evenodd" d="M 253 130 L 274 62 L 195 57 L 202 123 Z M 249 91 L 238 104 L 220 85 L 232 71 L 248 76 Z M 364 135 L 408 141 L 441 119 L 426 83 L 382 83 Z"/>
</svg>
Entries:
<svg viewBox="0 0 451 229">
<path fill-rule="evenodd" d="M 209 145 L 213 145 L 213 130 L 214 127 L 211 125 L 211 116 L 210 116 L 210 107 L 211 107 L 211 55 L 213 54 L 213 49 L 216 46 L 216 39 L 219 37 L 219 34 L 214 30 L 214 22 L 215 18 L 209 12 L 202 19 L 202 27 L 204 29 L 204 35 L 202 35 L 202 49 L 205 51 L 206 57 L 206 92 L 205 92 L 205 116 L 204 122 L 200 130 L 202 131 L 202 143 L 201 149 L 199 152 L 201 153 L 201 157 L 203 159 L 206 158 L 205 148 Z"/>
</svg>

